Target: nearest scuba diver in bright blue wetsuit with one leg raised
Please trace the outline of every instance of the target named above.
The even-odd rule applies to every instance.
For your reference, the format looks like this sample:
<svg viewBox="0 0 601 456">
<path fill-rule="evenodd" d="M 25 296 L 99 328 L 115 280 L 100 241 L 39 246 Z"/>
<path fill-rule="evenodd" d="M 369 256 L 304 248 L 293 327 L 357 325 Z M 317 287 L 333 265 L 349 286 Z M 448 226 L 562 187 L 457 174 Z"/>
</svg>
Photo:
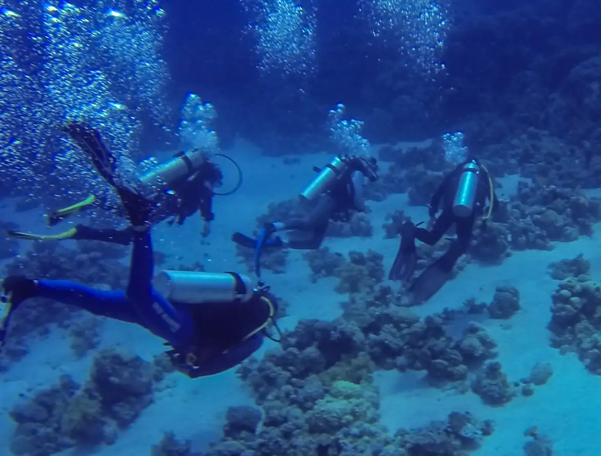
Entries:
<svg viewBox="0 0 601 456">
<path fill-rule="evenodd" d="M 86 150 L 89 152 L 89 150 Z M 93 156 L 96 168 L 115 185 L 132 225 L 133 252 L 126 290 L 96 290 L 77 282 L 8 276 L 1 285 L 6 305 L 0 345 L 11 316 L 32 297 L 77 306 L 95 315 L 138 324 L 165 339 L 174 367 L 191 378 L 218 374 L 254 353 L 275 322 L 278 303 L 269 287 L 235 272 L 163 271 L 152 286 L 150 219 L 156 204 L 115 178 L 114 161 Z"/>
</svg>

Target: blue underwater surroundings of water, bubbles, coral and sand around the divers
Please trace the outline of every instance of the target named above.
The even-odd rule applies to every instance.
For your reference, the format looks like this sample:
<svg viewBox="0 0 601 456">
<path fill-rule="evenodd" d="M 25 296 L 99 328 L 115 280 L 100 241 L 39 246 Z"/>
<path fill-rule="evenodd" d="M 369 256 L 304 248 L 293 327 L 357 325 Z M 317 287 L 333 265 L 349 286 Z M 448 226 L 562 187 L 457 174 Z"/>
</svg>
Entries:
<svg viewBox="0 0 601 456">
<path fill-rule="evenodd" d="M 527 456 L 598 453 L 601 2 L 0 0 L 0 226 L 122 227 L 59 131 L 83 119 L 138 175 L 223 153 L 242 186 L 153 228 L 160 269 L 252 276 L 231 234 L 294 213 L 341 153 L 372 154 L 368 210 L 320 249 L 263 255 L 282 344 L 191 380 L 141 327 L 49 300 L 0 352 L 0 454 Z M 386 273 L 466 154 L 501 199 L 454 279 L 412 306 Z M 234 163 L 216 157 L 224 188 Z M 418 270 L 447 248 L 418 246 Z M 3 275 L 122 289 L 130 249 L 0 237 Z"/>
</svg>

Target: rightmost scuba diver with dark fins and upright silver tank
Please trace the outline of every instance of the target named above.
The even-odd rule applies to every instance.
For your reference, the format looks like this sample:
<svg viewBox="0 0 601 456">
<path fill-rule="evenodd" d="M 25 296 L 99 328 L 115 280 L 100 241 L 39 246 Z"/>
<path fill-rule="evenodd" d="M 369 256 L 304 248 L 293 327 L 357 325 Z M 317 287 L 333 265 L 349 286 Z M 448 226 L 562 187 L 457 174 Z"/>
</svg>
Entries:
<svg viewBox="0 0 601 456">
<path fill-rule="evenodd" d="M 421 223 L 413 225 L 412 222 L 406 222 L 401 227 L 401 244 L 388 275 L 390 280 L 409 280 L 418 260 L 415 239 L 435 245 L 454 224 L 457 237 L 448 251 L 430 264 L 409 287 L 409 292 L 417 302 L 429 300 L 450 278 L 453 266 L 469 248 L 475 221 L 483 215 L 486 199 L 489 199 L 490 205 L 482 221 L 482 230 L 486 229 L 486 220 L 499 207 L 489 172 L 476 159 L 465 160 L 445 177 L 432 195 L 429 204 L 431 219 L 436 217 L 441 199 L 442 212 L 432 230 L 419 227 Z"/>
</svg>

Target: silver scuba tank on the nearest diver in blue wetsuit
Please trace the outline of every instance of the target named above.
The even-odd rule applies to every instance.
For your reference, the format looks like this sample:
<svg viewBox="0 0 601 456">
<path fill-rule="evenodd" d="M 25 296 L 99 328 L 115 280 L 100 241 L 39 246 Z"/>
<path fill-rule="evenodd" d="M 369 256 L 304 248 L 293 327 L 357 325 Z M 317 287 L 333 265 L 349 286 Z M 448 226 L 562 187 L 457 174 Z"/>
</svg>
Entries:
<svg viewBox="0 0 601 456">
<path fill-rule="evenodd" d="M 162 271 L 154 279 L 154 289 L 165 299 L 186 304 L 248 301 L 253 294 L 248 276 L 235 273 Z"/>
</svg>

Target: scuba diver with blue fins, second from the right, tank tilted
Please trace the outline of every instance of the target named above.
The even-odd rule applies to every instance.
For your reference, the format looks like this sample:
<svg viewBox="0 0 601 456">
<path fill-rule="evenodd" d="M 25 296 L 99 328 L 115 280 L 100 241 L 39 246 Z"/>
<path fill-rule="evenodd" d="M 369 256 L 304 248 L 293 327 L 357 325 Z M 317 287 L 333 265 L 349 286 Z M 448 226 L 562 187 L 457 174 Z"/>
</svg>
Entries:
<svg viewBox="0 0 601 456">
<path fill-rule="evenodd" d="M 374 157 L 335 157 L 300 193 L 301 203 L 313 205 L 305 218 L 266 223 L 258 239 L 234 233 L 232 240 L 259 252 L 263 246 L 291 249 L 319 249 L 330 220 L 348 222 L 355 212 L 365 210 L 363 201 L 364 178 L 377 180 L 377 160 Z M 276 232 L 286 236 L 269 239 Z M 285 238 L 285 239 L 284 239 Z"/>
</svg>

